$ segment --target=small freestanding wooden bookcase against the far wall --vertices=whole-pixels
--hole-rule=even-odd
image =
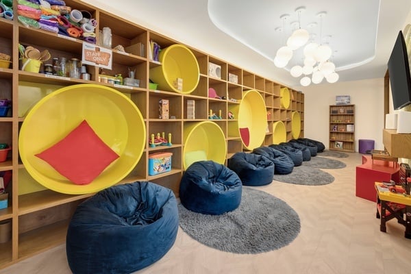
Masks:
[[[356,105],[329,105],[329,150],[355,151]]]

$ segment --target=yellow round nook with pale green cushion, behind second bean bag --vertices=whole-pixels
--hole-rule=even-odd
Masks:
[[[201,160],[224,164],[226,153],[227,142],[219,125],[212,121],[184,124],[184,169]]]

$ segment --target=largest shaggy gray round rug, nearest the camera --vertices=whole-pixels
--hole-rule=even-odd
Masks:
[[[178,204],[179,225],[203,245],[232,253],[262,253],[288,245],[300,232],[298,214],[281,199],[243,186],[240,206],[221,215]]]

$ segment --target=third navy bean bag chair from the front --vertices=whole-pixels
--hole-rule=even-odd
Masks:
[[[237,173],[243,186],[264,186],[273,182],[274,162],[263,155],[237,152],[229,158],[227,166]]]

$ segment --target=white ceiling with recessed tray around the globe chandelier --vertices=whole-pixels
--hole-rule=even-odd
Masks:
[[[384,77],[395,38],[411,23],[406,22],[410,0],[83,1],[291,87],[299,86],[299,78],[277,68],[273,58],[290,36],[292,22],[299,21],[296,8],[306,8],[301,27],[316,34],[315,42],[323,38],[332,47],[340,82]],[[316,14],[323,11],[327,15],[321,23]],[[282,21],[282,14],[290,17]],[[309,28],[313,22],[316,27]],[[302,54],[295,52],[288,70],[302,62]]]

